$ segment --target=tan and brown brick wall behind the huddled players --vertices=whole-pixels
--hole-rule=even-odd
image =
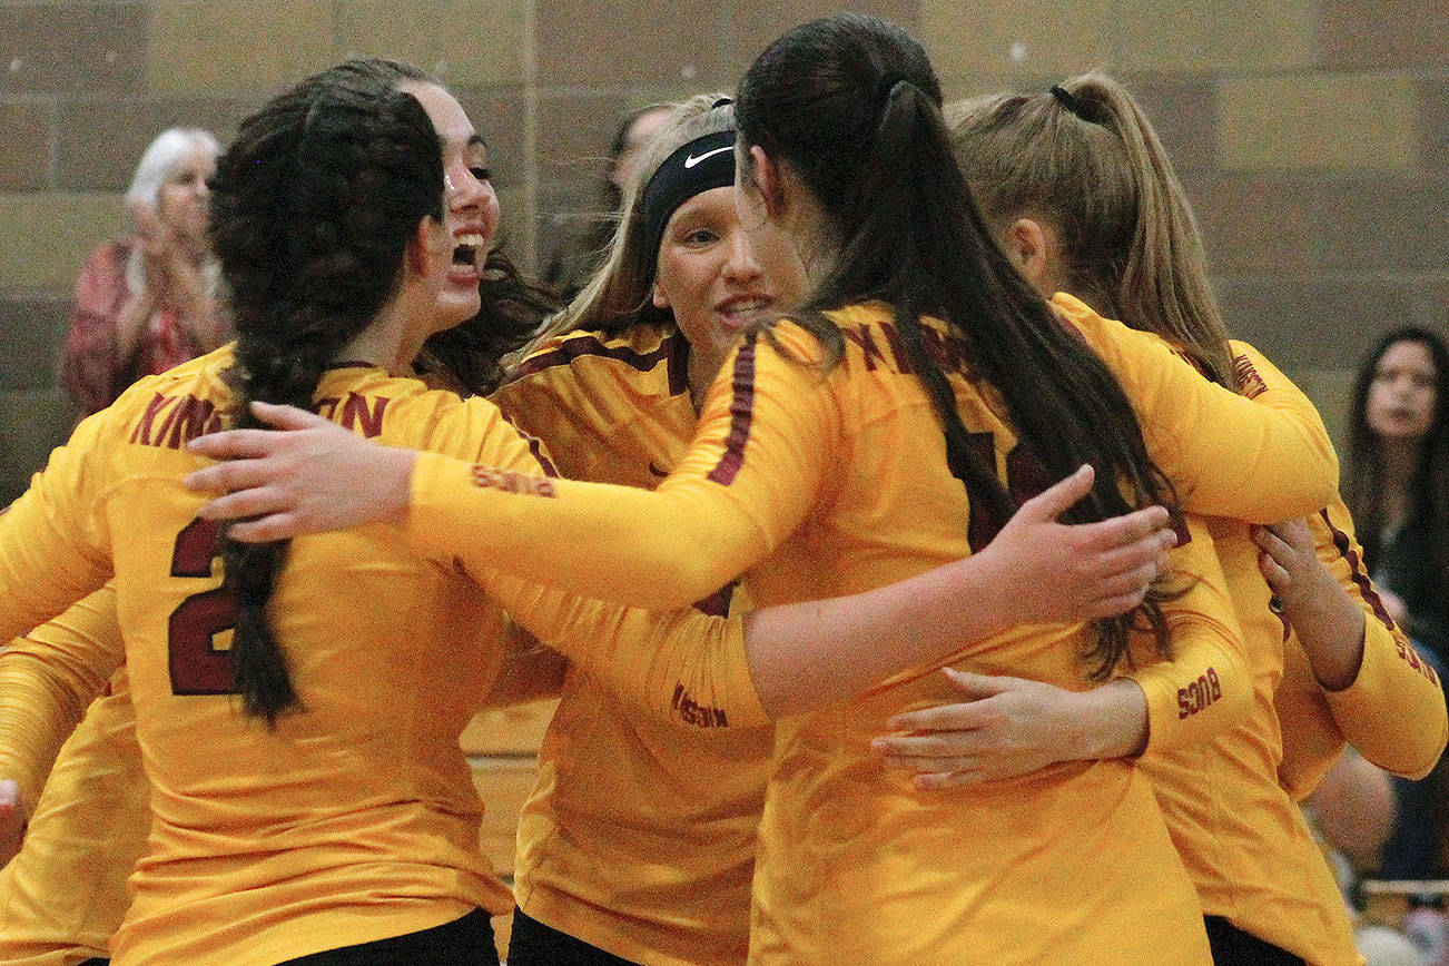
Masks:
[[[1375,333],[1449,327],[1449,0],[872,0],[948,96],[1104,67],[1158,123],[1235,330],[1337,424]],[[729,88],[817,0],[0,0],[0,497],[68,430],[74,275],[172,123],[223,139],[349,54],[443,75],[490,139],[525,264],[594,196],[616,117]]]

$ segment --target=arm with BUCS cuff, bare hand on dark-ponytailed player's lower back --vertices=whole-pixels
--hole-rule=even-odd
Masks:
[[[1232,727],[1252,704],[1242,631],[1207,529],[1190,520],[1190,533],[1172,563],[1191,587],[1164,605],[1169,660],[1080,692],[948,671],[965,700],[897,715],[875,752],[891,768],[917,772],[920,788],[953,788],[1062,760],[1203,742]]]

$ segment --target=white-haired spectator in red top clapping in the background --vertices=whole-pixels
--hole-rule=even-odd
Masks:
[[[75,281],[61,379],[84,414],[143,375],[226,342],[207,246],[207,187],[220,146],[209,132],[161,132],[126,191],[132,224],[91,252]]]

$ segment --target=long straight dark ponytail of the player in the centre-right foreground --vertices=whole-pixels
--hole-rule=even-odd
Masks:
[[[881,300],[893,307],[911,368],[926,384],[952,472],[974,504],[1006,520],[1016,501],[994,459],[977,455],[923,316],[946,326],[948,353],[994,385],[1022,442],[1052,479],[1097,469],[1071,521],[1175,504],[1130,403],[1103,362],[1000,253],[981,220],[940,114],[940,84],[920,43],[885,20],[842,13],[775,41],[740,81],[735,120],[746,148],[788,164],[814,196],[835,249],[796,313],[835,365],[845,345],[824,311]],[[752,178],[748,158],[742,182]],[[768,332],[768,330],[767,330]],[[1137,611],[1098,621],[1084,660],[1107,676],[1137,618],[1168,652],[1161,587]]]

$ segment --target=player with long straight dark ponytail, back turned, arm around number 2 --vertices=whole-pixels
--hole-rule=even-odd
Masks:
[[[433,552],[506,558],[510,569],[545,579],[567,574],[588,592],[677,604],[767,555],[768,563],[751,571],[761,601],[868,587],[927,565],[949,546],[990,546],[993,521],[1011,505],[998,474],[1009,474],[1020,494],[1032,488],[1033,472],[1059,475],[1087,450],[1100,468],[1100,504],[1088,513],[1120,505],[1119,484],[1132,500],[1159,494],[1130,404],[985,240],[938,106],[919,46],[868,17],[800,28],[751,68],[738,113],[740,156],[751,162],[742,217],[753,219],[764,259],[800,253],[813,272],[813,298],[798,324],[746,339],[730,358],[704,407],[703,442],[656,495],[567,482],[546,498],[504,494],[487,471],[472,475],[426,455],[351,446],[284,414],[309,429],[288,440],[245,433],[201,446],[213,455],[275,449],[284,459],[274,465],[290,468],[298,459],[314,468],[326,459],[351,475],[367,468],[375,474],[368,500],[381,498],[381,507],[304,503],[297,510],[294,484],[272,478],[212,511],[281,508],[236,529],[256,539],[406,505],[409,536]],[[943,323],[922,322],[923,310]],[[1098,339],[1110,329],[1084,324]],[[1119,365],[1151,368],[1124,355],[1116,349]],[[1020,437],[1007,419],[1024,421]],[[1020,449],[1019,440],[1026,442]],[[1200,504],[1242,492],[1236,482],[1219,491],[1198,485],[1190,455],[1171,446],[1164,453]],[[239,463],[204,471],[194,482],[248,485],[264,476],[256,465]],[[303,478],[307,487],[317,479]],[[517,556],[526,543],[559,532],[593,539],[551,543],[546,563]],[[1188,549],[1206,545],[1200,537]],[[636,563],[609,566],[619,559]],[[1179,643],[1203,653],[1216,646],[1222,655],[1232,646],[1230,610],[1213,600],[1214,562],[1195,563],[1201,579],[1188,597],[1197,610],[1175,611]],[[1126,647],[1120,630],[1033,629],[974,647],[969,659],[1080,686],[1093,672],[1116,668]],[[935,681],[924,671],[906,675],[846,710],[793,721],[777,743],[752,957],[1206,956],[1195,898],[1164,849],[1151,794],[1130,766],[1058,769],[1030,786],[982,794],[969,810],[862,773],[865,723],[885,707],[939,700]],[[1230,688],[1198,695],[1184,717],[1204,726],[1223,711],[1219,700],[1239,697]],[[1027,818],[1026,801],[1032,831],[1024,833],[1013,817]],[[1074,894],[1082,881],[1093,882],[1091,892]]]

